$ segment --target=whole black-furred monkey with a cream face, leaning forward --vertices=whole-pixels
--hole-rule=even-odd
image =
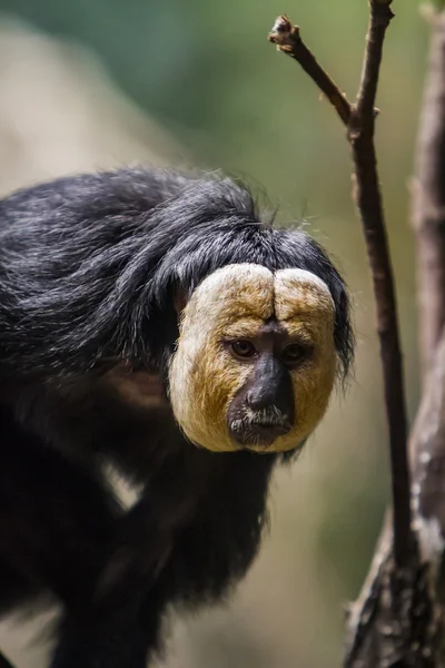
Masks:
[[[0,612],[60,603],[51,668],[144,668],[168,609],[243,579],[276,464],[353,360],[340,273],[235,178],[122,167],[7,196]]]

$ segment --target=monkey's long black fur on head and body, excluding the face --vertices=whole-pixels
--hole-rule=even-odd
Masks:
[[[167,603],[218,599],[256,554],[277,456],[196,449],[168,404],[131,407],[103,382],[119,361],[165,376],[174,296],[246,262],[327,283],[346,375],[343,279],[233,180],[121,169],[0,203],[0,609],[63,602],[53,668],[142,668]],[[105,461],[144,483],[128,512]]]

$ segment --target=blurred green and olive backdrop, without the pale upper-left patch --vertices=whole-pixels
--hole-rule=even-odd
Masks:
[[[377,125],[411,415],[418,391],[407,184],[427,40],[418,7],[417,0],[393,3]],[[283,224],[303,218],[339,258],[359,340],[352,389],[346,400],[334,402],[291,472],[278,475],[271,539],[234,605],[178,627],[179,654],[175,659],[172,651],[168,664],[338,665],[342,603],[363,581],[387,493],[378,345],[344,128],[298,66],[267,42],[267,33],[277,14],[288,13],[353,99],[366,0],[0,0],[0,11],[90,49],[122,94],[180,141],[187,159],[241,175],[259,193],[264,187],[270,206],[279,204]]]

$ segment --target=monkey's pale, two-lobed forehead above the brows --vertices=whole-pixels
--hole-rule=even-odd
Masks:
[[[290,268],[274,273],[256,264],[217,269],[197,287],[189,306],[199,317],[219,313],[280,321],[335,310],[328,286],[312,272]]]

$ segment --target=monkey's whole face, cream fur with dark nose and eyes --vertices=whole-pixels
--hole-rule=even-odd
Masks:
[[[335,306],[303,269],[230,265],[182,312],[169,369],[178,424],[214,451],[286,451],[323,418],[336,373]]]

